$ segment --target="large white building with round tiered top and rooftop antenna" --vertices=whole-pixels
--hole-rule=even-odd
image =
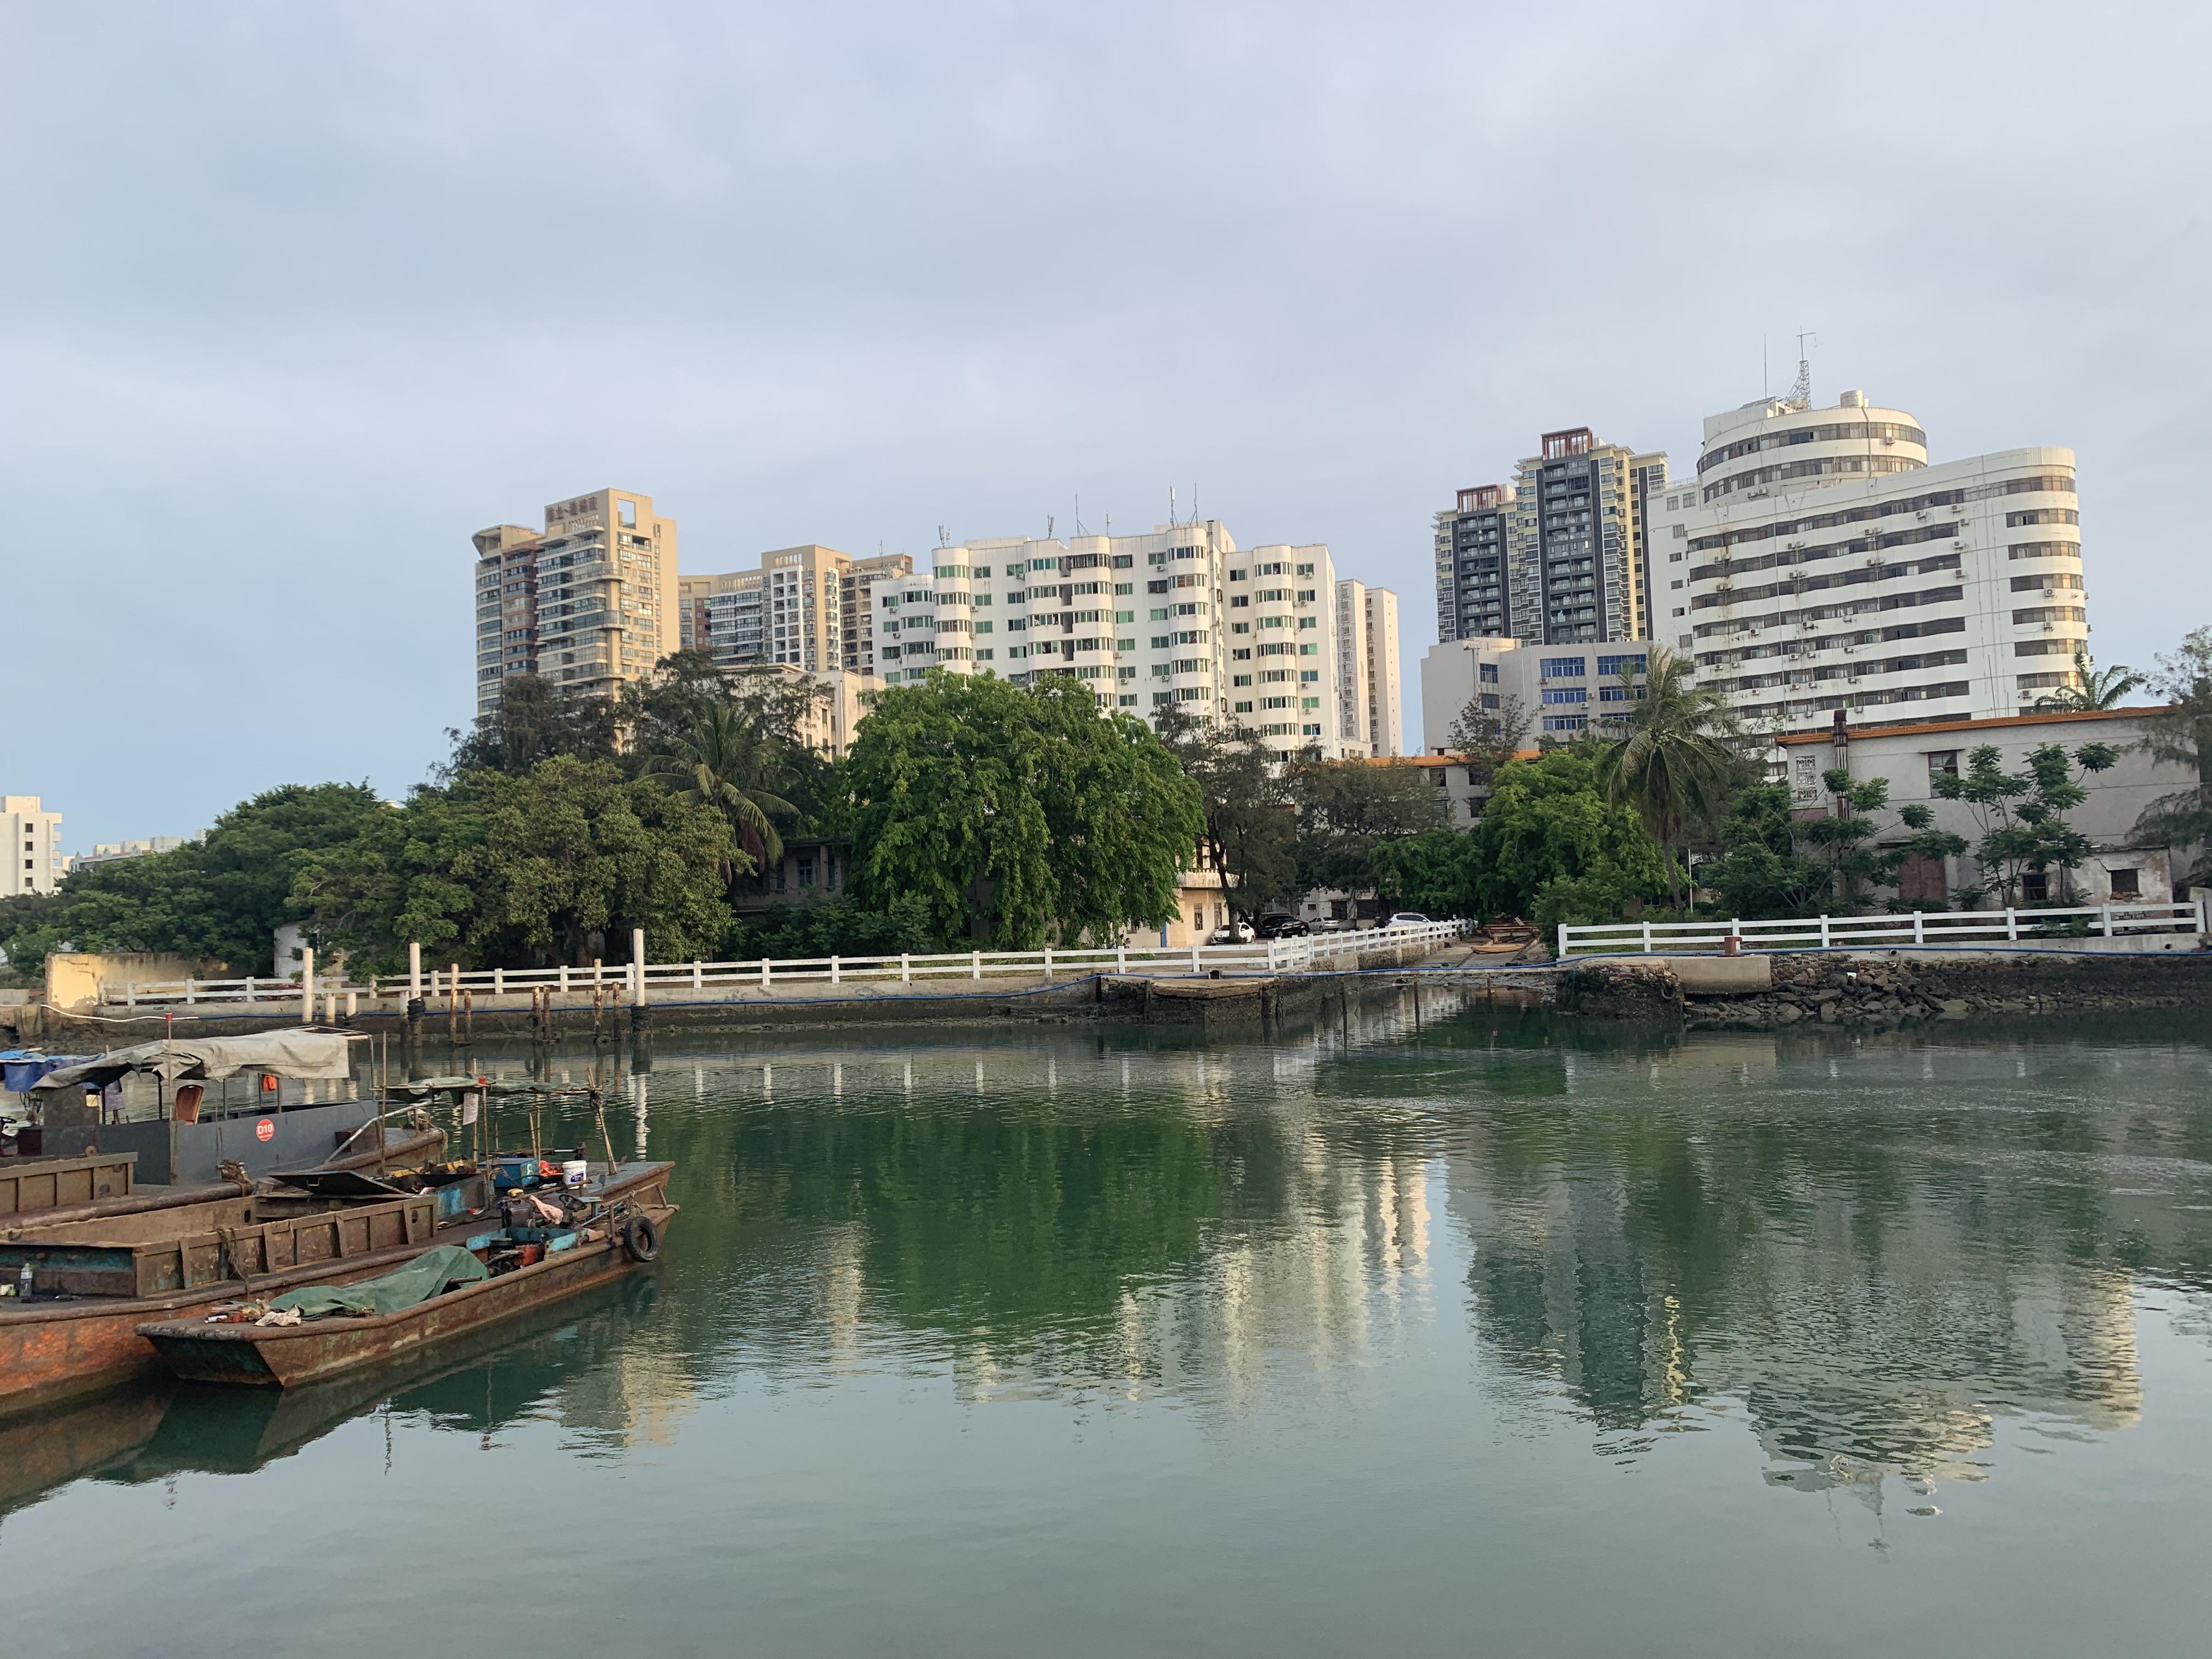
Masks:
[[[2073,451],[1929,465],[1920,422],[1863,392],[1712,416],[1646,533],[1652,633],[1754,728],[2002,719],[2088,648]]]

